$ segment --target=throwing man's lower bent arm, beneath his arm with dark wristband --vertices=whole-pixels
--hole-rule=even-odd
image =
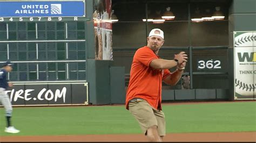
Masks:
[[[183,62],[180,65],[178,65],[176,71],[174,71],[169,76],[165,77],[163,81],[169,85],[176,85],[180,80],[182,74],[184,73],[185,66],[186,62]]]

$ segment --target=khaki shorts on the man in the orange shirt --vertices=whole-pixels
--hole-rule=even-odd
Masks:
[[[136,98],[129,102],[129,111],[139,122],[143,133],[146,135],[147,129],[157,126],[159,136],[165,135],[165,116],[161,110],[156,110],[144,99]]]

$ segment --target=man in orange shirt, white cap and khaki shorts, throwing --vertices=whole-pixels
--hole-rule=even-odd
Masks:
[[[151,30],[147,46],[139,48],[133,56],[130,82],[126,93],[126,109],[139,122],[149,141],[163,141],[165,116],[161,111],[162,81],[175,85],[183,74],[187,62],[185,52],[174,55],[174,60],[160,59],[157,55],[164,44],[164,32]],[[170,68],[177,67],[171,73]]]

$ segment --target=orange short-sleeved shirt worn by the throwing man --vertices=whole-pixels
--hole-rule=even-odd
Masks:
[[[159,59],[147,46],[139,48],[133,56],[130,72],[130,82],[126,92],[126,109],[133,98],[145,99],[154,109],[161,110],[162,80],[169,76],[168,69],[159,70],[150,67],[150,62]]]

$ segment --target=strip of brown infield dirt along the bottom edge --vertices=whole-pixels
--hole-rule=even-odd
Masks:
[[[56,135],[56,136],[10,136],[0,137],[0,141],[147,141],[143,134],[104,134],[104,135]],[[214,142],[255,142],[256,132],[223,133],[170,133],[164,141],[214,141]]]

